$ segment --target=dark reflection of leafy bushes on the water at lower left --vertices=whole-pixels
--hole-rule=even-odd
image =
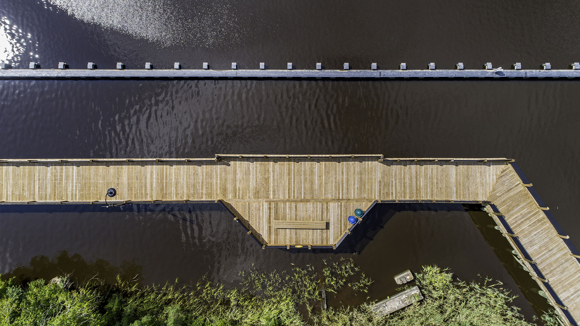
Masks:
[[[142,274],[143,266],[135,260],[113,266],[104,259],[87,261],[78,253],[70,255],[67,251],[59,251],[52,259],[44,255],[34,256],[28,266],[17,265],[9,273],[3,274],[2,279],[14,277],[17,284],[26,284],[39,278],[48,281],[53,277],[70,275],[71,281],[76,284],[86,284],[91,280],[114,284],[117,276],[124,281],[142,282]]]

